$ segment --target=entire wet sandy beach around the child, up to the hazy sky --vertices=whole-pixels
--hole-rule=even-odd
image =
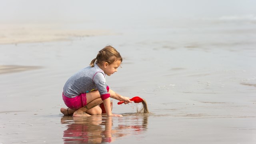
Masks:
[[[0,144],[256,142],[255,15],[101,18],[0,25]],[[124,117],[63,116],[64,83],[108,44],[124,58],[108,85],[150,113],[113,100]]]

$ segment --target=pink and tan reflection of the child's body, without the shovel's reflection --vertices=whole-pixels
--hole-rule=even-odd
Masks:
[[[73,121],[73,122],[70,122]],[[63,132],[64,144],[101,144],[104,142],[113,142],[111,116],[103,118],[102,116],[90,116],[86,119],[81,117],[64,116],[60,121],[65,126]],[[124,134],[123,134],[124,136]],[[121,137],[121,136],[118,136]]]

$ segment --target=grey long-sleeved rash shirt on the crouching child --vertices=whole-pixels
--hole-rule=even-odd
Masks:
[[[100,95],[107,94],[106,74],[95,63],[94,67],[88,66],[71,76],[63,88],[63,93],[69,98],[74,98],[82,93],[98,90]]]

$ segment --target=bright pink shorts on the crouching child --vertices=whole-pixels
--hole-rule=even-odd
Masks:
[[[66,106],[72,110],[78,110],[79,108],[82,108],[86,106],[86,93],[80,94],[79,96],[76,96],[74,98],[68,98],[62,93],[62,99]]]

